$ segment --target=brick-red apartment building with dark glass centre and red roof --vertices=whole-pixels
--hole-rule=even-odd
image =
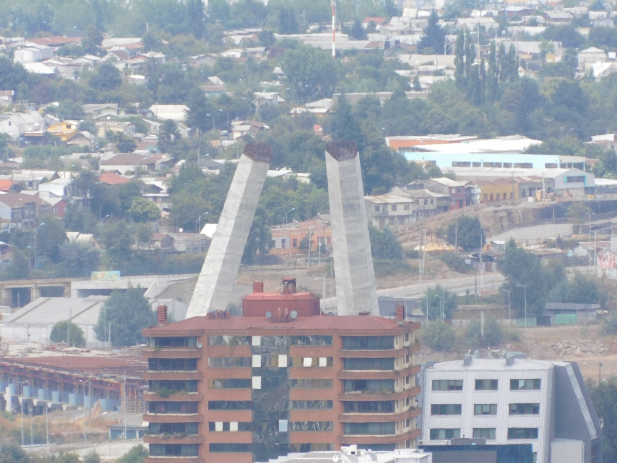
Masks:
[[[157,327],[148,339],[146,463],[251,463],[292,452],[413,448],[419,323],[321,315],[319,299],[263,283],[243,315],[210,312]],[[268,316],[269,315],[269,316]]]

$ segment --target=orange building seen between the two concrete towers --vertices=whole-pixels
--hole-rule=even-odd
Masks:
[[[329,214],[318,215],[304,222],[289,222],[284,225],[274,225],[270,228],[273,256],[288,256],[309,251],[309,235],[311,252],[318,253],[332,249],[332,230]],[[302,243],[302,240],[306,240]],[[303,246],[303,247],[302,247]],[[317,255],[317,254],[316,254]]]

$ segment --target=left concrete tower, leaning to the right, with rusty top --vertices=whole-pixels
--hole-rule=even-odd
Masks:
[[[244,148],[186,318],[225,310],[231,302],[231,291],[271,158],[272,150],[266,143],[249,143]]]

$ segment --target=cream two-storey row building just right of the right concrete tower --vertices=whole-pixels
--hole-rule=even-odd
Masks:
[[[395,190],[378,196],[365,196],[366,219],[379,230],[404,225],[447,211],[450,196],[429,190]]]

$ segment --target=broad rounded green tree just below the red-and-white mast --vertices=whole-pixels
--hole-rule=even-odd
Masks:
[[[331,98],[341,78],[341,65],[331,53],[308,45],[286,51],[281,64],[291,93],[301,102]]]

